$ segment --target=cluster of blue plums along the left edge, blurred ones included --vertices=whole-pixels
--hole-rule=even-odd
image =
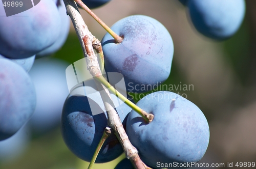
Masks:
[[[60,49],[69,34],[65,5],[62,0],[30,3],[23,2],[23,11],[0,5],[0,162],[22,154],[31,132],[58,126],[69,93],[68,64],[45,57]],[[97,7],[106,1],[84,3]]]

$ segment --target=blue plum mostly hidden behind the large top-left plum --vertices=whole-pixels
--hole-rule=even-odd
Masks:
[[[70,17],[66,13],[66,7],[63,1],[58,0],[57,2],[58,12],[60,15],[60,21],[61,21],[61,27],[59,30],[59,36],[57,40],[48,48],[40,51],[36,54],[36,57],[42,57],[44,55],[50,55],[56,51],[58,51],[63,44],[66,42],[67,37],[69,35],[69,29],[70,29]]]

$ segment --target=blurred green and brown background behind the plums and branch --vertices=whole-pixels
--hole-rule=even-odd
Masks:
[[[200,162],[225,163],[225,168],[227,162],[256,162],[256,1],[247,0],[246,8],[240,30],[221,42],[200,35],[178,0],[112,0],[93,10],[109,26],[125,16],[142,14],[167,28],[174,41],[174,60],[164,84],[193,85],[188,91],[172,92],[198,105],[209,122],[210,143]],[[101,40],[105,30],[86,12],[80,12],[89,30]],[[69,65],[82,57],[71,24],[65,45],[48,59],[58,58]],[[81,169],[89,165],[68,150],[59,123],[41,133],[29,127],[24,130],[30,141],[14,149],[15,156],[0,155],[1,169]],[[18,153],[20,149],[22,153]],[[124,155],[95,168],[114,168],[122,158]]]

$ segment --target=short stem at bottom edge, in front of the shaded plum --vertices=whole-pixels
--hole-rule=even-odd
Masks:
[[[97,156],[99,154],[99,151],[100,151],[102,145],[104,144],[106,138],[108,138],[111,134],[112,134],[111,128],[110,127],[106,127],[104,132],[103,132],[102,137],[100,138],[99,144],[98,144],[98,146],[97,146],[97,148],[96,148],[96,150],[95,150],[95,152],[93,154],[93,158],[92,158],[92,160],[91,160],[91,162],[90,162],[90,164],[88,166],[88,169],[92,169],[93,168],[93,165],[94,165],[94,163],[96,161],[96,158],[97,158]]]

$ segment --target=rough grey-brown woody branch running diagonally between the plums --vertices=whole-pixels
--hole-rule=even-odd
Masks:
[[[84,23],[77,5],[72,0],[63,0],[65,3],[67,14],[70,16],[72,23],[75,27],[76,34],[78,36],[80,45],[83,50],[84,57],[86,58],[88,70],[93,77],[102,76],[99,63],[97,61],[97,56],[93,50],[93,41],[95,37],[88,30],[86,23]],[[119,142],[121,143],[126,158],[130,159],[134,166],[138,169],[149,168],[140,159],[137,149],[131,144],[121,120],[114,109],[114,103],[111,100],[110,92],[106,89],[99,81],[95,79],[96,86],[100,92],[101,98],[103,100],[107,115],[108,115],[108,125],[114,130]]]

